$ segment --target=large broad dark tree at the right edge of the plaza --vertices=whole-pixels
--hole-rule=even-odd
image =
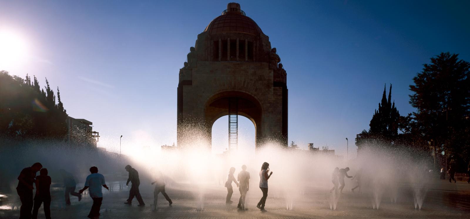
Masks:
[[[452,159],[470,160],[470,63],[440,53],[413,78],[410,104],[421,135]]]

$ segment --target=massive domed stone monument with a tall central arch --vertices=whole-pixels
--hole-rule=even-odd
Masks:
[[[210,145],[212,125],[225,115],[229,138],[237,137],[232,127],[242,115],[255,126],[256,148],[271,141],[287,147],[286,71],[268,36],[238,3],[228,3],[189,51],[178,83],[178,147],[197,140]]]

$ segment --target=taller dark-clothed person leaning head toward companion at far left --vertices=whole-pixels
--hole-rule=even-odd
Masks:
[[[40,163],[35,163],[31,167],[24,168],[18,176],[18,186],[16,192],[20,196],[20,219],[30,219],[33,207],[32,184],[35,182],[36,173],[42,168]],[[36,188],[37,189],[37,188]]]

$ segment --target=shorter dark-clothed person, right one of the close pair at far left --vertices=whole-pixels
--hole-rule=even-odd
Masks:
[[[34,196],[34,208],[32,210],[32,219],[38,218],[38,211],[41,204],[44,203],[44,215],[46,219],[51,219],[51,177],[47,175],[47,169],[42,168],[39,176],[36,177],[36,196]]]

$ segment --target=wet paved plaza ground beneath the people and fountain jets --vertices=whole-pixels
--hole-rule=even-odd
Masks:
[[[126,206],[125,202],[129,187],[120,189],[119,183],[110,183],[111,191],[103,189],[104,198],[101,207],[101,217],[104,219],[129,219],[129,218],[168,218],[168,219],[205,219],[205,218],[242,218],[242,219],[310,219],[310,218],[469,218],[470,217],[470,184],[464,181],[449,183],[444,180],[434,180],[426,183],[420,191],[424,196],[421,210],[415,209],[413,189],[410,185],[401,184],[396,203],[393,203],[387,195],[385,188],[382,193],[375,194],[357,191],[343,191],[338,198],[337,209],[331,210],[332,195],[329,188],[310,188],[299,193],[291,202],[280,196],[274,189],[268,193],[266,201],[267,212],[261,212],[256,208],[261,197],[258,188],[252,188],[247,197],[247,211],[238,211],[236,204],[239,192],[234,188],[232,196],[233,204],[225,204],[226,190],[219,186],[205,189],[204,198],[198,198],[197,194],[180,188],[167,188],[168,195],[172,198],[173,205],[160,194],[157,211],[152,211],[153,194],[142,191],[145,207],[138,207],[134,199],[133,206]],[[121,184],[122,185],[122,184]],[[81,188],[79,185],[77,188]],[[78,189],[77,189],[78,190]],[[148,190],[148,189],[147,189]],[[92,199],[85,194],[81,202],[72,196],[71,206],[65,206],[62,188],[51,189],[53,201],[51,204],[52,218],[74,219],[86,218]],[[13,219],[19,217],[19,199],[16,194],[8,195],[0,204],[0,219]],[[379,209],[373,208],[374,197],[379,200]],[[378,197],[378,198],[377,198]],[[203,201],[199,201],[203,200]],[[288,210],[290,209],[291,210]],[[39,210],[39,218],[44,218],[42,208]]]

